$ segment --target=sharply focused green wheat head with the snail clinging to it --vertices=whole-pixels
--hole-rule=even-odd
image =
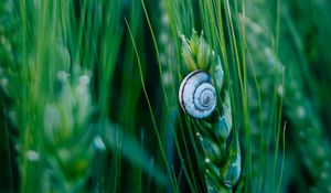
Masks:
[[[211,50],[203,34],[193,31],[190,40],[182,39],[183,65],[181,75],[202,69],[213,76],[216,85],[218,107],[213,118],[199,120],[190,118],[202,147],[204,176],[209,192],[232,192],[241,176],[241,149],[238,137],[232,130],[232,108],[228,93],[223,88],[223,67],[220,56]],[[229,135],[232,136],[229,137]]]

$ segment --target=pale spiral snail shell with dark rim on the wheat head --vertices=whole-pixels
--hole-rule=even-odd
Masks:
[[[209,117],[216,107],[216,90],[210,74],[204,71],[190,73],[181,83],[179,99],[191,117]]]

